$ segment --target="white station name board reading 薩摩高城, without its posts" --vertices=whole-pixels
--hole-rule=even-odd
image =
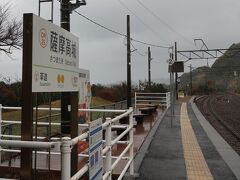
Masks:
[[[78,37],[33,15],[32,92],[78,91]]]

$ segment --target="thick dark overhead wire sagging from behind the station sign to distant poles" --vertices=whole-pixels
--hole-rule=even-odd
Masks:
[[[101,27],[101,28],[103,28],[103,29],[105,29],[105,30],[107,30],[109,32],[112,32],[113,34],[117,34],[117,35],[122,36],[122,37],[127,37],[126,34],[123,34],[123,33],[120,33],[118,31],[115,31],[115,30],[113,30],[111,28],[108,28],[108,27],[106,27],[106,26],[96,22],[95,20],[92,20],[89,17],[83,15],[82,13],[79,13],[76,10],[74,10],[74,12],[76,14],[78,14],[79,16],[83,17],[84,19],[88,20],[89,22],[91,22],[91,23],[93,23],[93,24],[95,24],[95,25],[97,25],[97,26],[99,26],[99,27]],[[131,38],[131,41],[135,41],[135,42],[140,43],[140,44],[144,44],[144,45],[148,45],[148,46],[152,46],[152,47],[157,47],[157,48],[164,48],[164,49],[169,49],[170,48],[170,46],[157,45],[157,44],[153,44],[153,43],[137,40],[137,39],[134,39],[134,38]]]

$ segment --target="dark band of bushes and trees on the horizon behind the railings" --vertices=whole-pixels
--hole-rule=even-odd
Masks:
[[[21,106],[22,82],[10,82],[11,81],[0,81],[0,104],[3,106]],[[139,87],[132,87],[132,97],[134,97],[134,92],[139,91],[139,89],[146,92],[167,92],[167,87],[163,84],[152,83],[151,87],[149,87],[147,82],[140,82]],[[107,102],[119,102],[126,100],[126,92],[127,85],[125,82],[108,86],[101,84],[92,85],[92,96],[100,97],[107,100]],[[50,93],[38,93],[38,104],[48,105],[50,99],[49,95]],[[58,100],[60,99],[60,96],[60,93],[51,93],[51,100]],[[93,104],[93,106],[96,105],[98,106],[100,104]]]

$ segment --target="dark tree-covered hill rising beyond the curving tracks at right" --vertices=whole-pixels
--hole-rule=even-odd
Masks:
[[[233,44],[212,67],[199,67],[192,70],[193,94],[231,91],[240,93],[240,43]],[[190,73],[184,73],[180,89],[190,92]]]

